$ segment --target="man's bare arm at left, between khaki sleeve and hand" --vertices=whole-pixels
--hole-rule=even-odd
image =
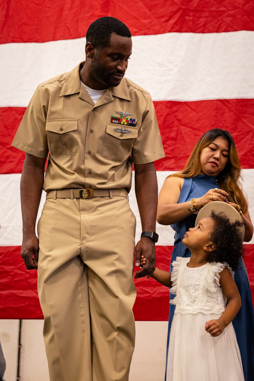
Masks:
[[[26,154],[20,182],[23,236],[35,234],[46,159]]]

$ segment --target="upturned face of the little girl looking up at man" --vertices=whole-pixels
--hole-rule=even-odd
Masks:
[[[211,233],[214,229],[214,221],[211,217],[202,218],[196,227],[191,227],[186,232],[182,243],[190,251],[200,251],[212,245]],[[206,250],[206,249],[205,249]]]

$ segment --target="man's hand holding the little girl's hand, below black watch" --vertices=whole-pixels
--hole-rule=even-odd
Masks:
[[[142,237],[140,241],[137,243],[135,251],[135,266],[137,267],[142,265],[142,268],[141,270],[136,272],[134,278],[142,278],[147,275],[147,279],[150,279],[156,267],[155,243],[150,238]],[[143,261],[141,256],[145,258],[145,261]],[[154,269],[151,269],[151,266],[153,266]]]

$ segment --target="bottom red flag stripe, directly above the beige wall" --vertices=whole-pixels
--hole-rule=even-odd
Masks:
[[[43,319],[37,293],[37,272],[26,270],[20,246],[0,247],[0,319]],[[157,267],[169,271],[173,246],[157,246]],[[254,245],[245,245],[254,300]],[[136,268],[135,268],[136,269]],[[169,289],[154,279],[134,280],[137,298],[135,320],[168,320]]]

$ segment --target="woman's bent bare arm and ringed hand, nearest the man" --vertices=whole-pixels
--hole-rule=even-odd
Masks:
[[[169,177],[165,180],[158,198],[157,221],[159,224],[176,224],[192,215],[189,201],[178,204],[183,184],[184,179],[180,177]],[[214,189],[210,189],[202,197],[196,198],[194,204],[200,209],[207,203],[213,202],[211,196],[214,197],[214,201],[225,201],[228,194],[222,189],[218,189],[217,193]]]

